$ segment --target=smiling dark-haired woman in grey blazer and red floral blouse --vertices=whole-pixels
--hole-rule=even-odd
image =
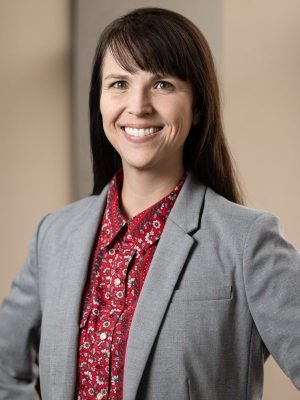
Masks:
[[[47,215],[1,311],[0,397],[254,400],[300,389],[300,260],[242,206],[208,45],[138,9],[100,37],[93,196]],[[107,185],[108,184],[108,185]]]

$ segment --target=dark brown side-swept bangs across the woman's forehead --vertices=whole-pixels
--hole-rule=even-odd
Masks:
[[[130,21],[128,21],[130,22]],[[107,48],[128,72],[138,69],[189,80],[189,68],[183,38],[167,26],[147,23],[121,24],[111,32]],[[118,29],[119,28],[119,29]]]

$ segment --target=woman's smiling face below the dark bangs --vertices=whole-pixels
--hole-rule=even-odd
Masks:
[[[123,69],[107,51],[102,66],[100,112],[124,172],[183,168],[183,145],[192,123],[192,87],[174,76]]]

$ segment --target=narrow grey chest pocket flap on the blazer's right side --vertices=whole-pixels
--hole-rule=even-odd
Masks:
[[[205,301],[205,300],[228,300],[232,296],[232,286],[198,286],[187,287],[174,291],[174,301]]]

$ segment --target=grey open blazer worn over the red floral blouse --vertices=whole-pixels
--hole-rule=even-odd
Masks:
[[[73,400],[81,295],[106,190],[47,215],[0,313],[0,399]],[[132,321],[124,400],[258,400],[272,353],[300,390],[300,259],[272,214],[189,175]]]

